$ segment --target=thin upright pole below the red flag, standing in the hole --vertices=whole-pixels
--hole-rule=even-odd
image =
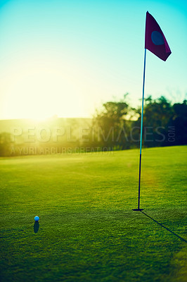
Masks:
[[[144,102],[145,77],[146,77],[146,48],[145,48],[145,53],[144,53],[143,90],[142,90],[142,102],[141,102],[141,136],[140,136],[139,181],[138,181],[138,209],[133,209],[133,211],[143,211],[143,209],[140,209],[140,188],[141,188],[141,147],[142,147],[142,135],[143,135],[143,102]]]

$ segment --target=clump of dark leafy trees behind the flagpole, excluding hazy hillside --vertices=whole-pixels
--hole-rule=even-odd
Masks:
[[[99,146],[114,149],[139,147],[141,108],[127,103],[127,95],[120,102],[106,102],[97,111],[93,125],[103,129],[107,142],[100,138]],[[110,133],[110,134],[109,134]],[[162,147],[187,144],[187,104],[172,104],[165,97],[145,99],[143,111],[143,147]]]

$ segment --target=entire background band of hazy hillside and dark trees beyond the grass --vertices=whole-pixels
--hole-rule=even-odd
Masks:
[[[139,147],[141,108],[127,102],[127,94],[120,101],[105,102],[96,110],[91,123],[78,128],[56,128],[56,137],[46,138],[46,130],[39,133],[41,142],[19,142],[11,133],[0,134],[0,155],[56,154],[64,152],[98,152]],[[43,139],[42,139],[43,138]],[[145,99],[143,111],[143,147],[163,147],[187,144],[187,104],[172,104],[165,97]],[[16,149],[17,148],[17,149]]]

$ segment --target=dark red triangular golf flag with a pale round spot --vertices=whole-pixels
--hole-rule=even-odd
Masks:
[[[163,61],[166,61],[169,55],[172,54],[164,33],[157,24],[155,18],[148,12],[146,13],[145,48]]]

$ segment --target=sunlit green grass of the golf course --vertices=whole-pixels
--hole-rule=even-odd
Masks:
[[[143,212],[185,240],[186,152],[143,149],[141,183]],[[186,242],[131,211],[138,154],[1,158],[1,281],[186,281]]]

